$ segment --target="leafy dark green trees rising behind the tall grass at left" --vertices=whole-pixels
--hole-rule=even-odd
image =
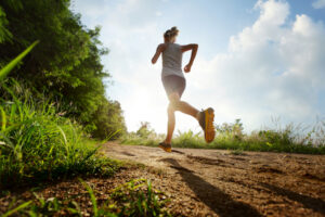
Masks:
[[[101,56],[108,50],[99,40],[100,27],[86,28],[80,15],[69,10],[69,2],[2,0],[0,67],[39,40],[39,46],[10,77],[28,85],[34,94],[41,92],[60,102],[57,106],[63,114],[76,119],[93,136],[104,138],[117,130],[121,135],[125,124],[116,123],[122,119],[121,110],[104,95],[103,79],[109,74],[104,71]],[[4,94],[0,91],[1,97]],[[104,117],[107,111],[112,117]],[[103,118],[108,123],[103,124]]]

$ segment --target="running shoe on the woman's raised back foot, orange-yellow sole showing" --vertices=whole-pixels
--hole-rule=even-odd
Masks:
[[[205,139],[208,143],[212,142],[216,137],[213,119],[214,111],[212,107],[202,111],[199,114],[198,123],[205,132]]]

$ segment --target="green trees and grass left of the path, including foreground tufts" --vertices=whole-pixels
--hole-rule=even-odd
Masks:
[[[99,153],[102,143],[126,132],[119,103],[105,97],[110,76],[101,56],[108,50],[100,27],[83,26],[69,3],[0,3],[0,199],[125,168]],[[83,216],[91,203],[91,216],[169,216],[166,196],[146,180],[121,183],[105,203],[80,181],[89,193],[80,203],[34,193],[32,200],[1,204],[0,215]]]

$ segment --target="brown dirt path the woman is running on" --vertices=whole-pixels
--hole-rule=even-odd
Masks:
[[[325,156],[107,143],[104,153],[148,166],[183,216],[325,216]]]

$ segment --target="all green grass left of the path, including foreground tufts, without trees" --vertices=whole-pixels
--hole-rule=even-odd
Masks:
[[[38,186],[44,181],[73,177],[110,177],[122,163],[98,154],[101,145],[91,140],[76,122],[63,117],[58,102],[36,97],[15,80],[5,80],[11,69],[32,50],[32,43],[0,71],[0,193],[13,188]],[[113,133],[114,135],[114,133]],[[92,204],[91,216],[170,216],[161,192],[140,179],[127,182],[110,192],[101,203],[89,184],[80,179]],[[73,199],[35,199],[16,204],[1,216],[83,216]],[[166,196],[164,196],[166,197]],[[88,201],[84,202],[86,204]],[[84,205],[84,204],[83,204]]]

